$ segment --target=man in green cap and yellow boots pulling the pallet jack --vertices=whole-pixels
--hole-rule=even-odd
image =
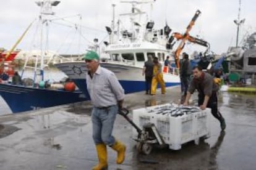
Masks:
[[[100,67],[100,57],[89,51],[84,55],[88,73],[86,74],[87,90],[93,104],[92,125],[93,140],[96,145],[99,163],[92,169],[108,168],[106,145],[117,152],[117,164],[124,161],[126,146],[112,136],[114,121],[124,101],[124,89],[112,71]]]

